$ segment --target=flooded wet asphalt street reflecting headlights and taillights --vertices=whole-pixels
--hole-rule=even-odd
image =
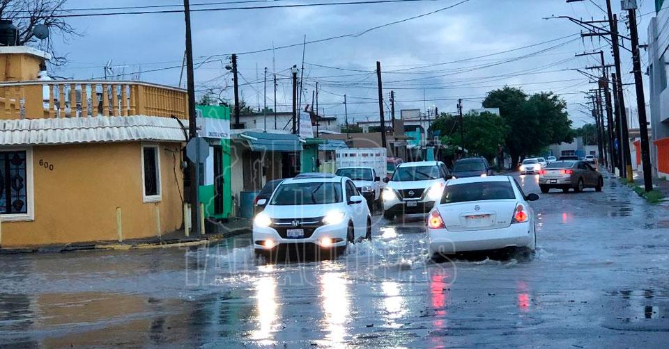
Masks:
[[[331,261],[267,263],[249,236],[0,256],[0,347],[666,348],[669,211],[605,181],[540,195],[531,259],[434,263],[420,216]]]

